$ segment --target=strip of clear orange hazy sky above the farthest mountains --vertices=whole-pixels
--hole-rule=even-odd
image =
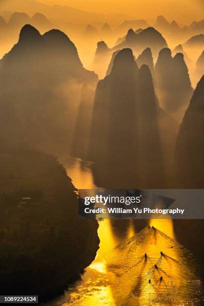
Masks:
[[[134,17],[155,18],[163,14],[180,22],[202,19],[204,0],[38,0],[46,4],[66,4],[92,12],[125,13]]]

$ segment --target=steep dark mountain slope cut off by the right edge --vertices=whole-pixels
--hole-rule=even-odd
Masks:
[[[199,80],[176,140],[175,178],[178,188],[203,188],[204,76]]]

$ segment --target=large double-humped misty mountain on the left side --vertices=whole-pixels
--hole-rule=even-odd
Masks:
[[[81,86],[94,88],[96,82],[96,74],[83,68],[63,32],[40,35],[25,25],[0,61],[0,137],[53,152],[67,150]]]

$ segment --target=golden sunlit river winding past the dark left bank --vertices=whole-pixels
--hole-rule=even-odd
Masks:
[[[61,162],[76,188],[96,188],[88,163],[76,158]],[[99,222],[94,261],[46,306],[203,304],[196,263],[176,240],[171,219],[149,220],[141,231],[131,220],[119,222]]]

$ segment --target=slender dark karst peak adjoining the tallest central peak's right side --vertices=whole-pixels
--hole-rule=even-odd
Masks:
[[[159,107],[153,87],[150,69],[142,65],[138,72],[139,105],[139,167],[142,185],[156,187],[164,185],[163,154],[159,133]],[[154,173],[154,181],[151,176]]]

